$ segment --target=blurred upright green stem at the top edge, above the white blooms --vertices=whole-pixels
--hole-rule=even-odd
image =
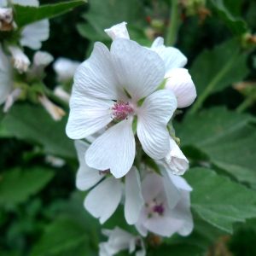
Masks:
[[[173,45],[177,39],[177,32],[179,27],[179,9],[178,9],[178,1],[171,0],[171,12],[170,12],[170,22],[167,27],[166,32],[166,45]]]

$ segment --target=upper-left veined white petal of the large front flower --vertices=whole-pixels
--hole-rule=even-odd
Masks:
[[[107,100],[121,100],[108,48],[102,43],[94,44],[90,58],[84,61],[74,76],[73,91]]]

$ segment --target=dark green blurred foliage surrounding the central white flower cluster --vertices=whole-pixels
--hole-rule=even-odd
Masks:
[[[173,2],[91,0],[50,21],[51,34],[43,49],[55,58],[83,61],[95,41],[110,44],[103,29],[123,20],[132,39],[150,45],[155,36],[168,34]],[[174,41],[188,56],[198,92],[195,104],[175,124],[191,166],[185,178],[194,188],[195,230],[160,244],[148,238],[148,255],[252,256],[256,255],[256,3],[194,2],[206,4],[181,9]],[[48,15],[57,9],[60,6],[48,9]],[[19,22],[25,24],[26,17],[21,15]],[[51,89],[56,78],[51,67],[47,72],[45,83]],[[68,112],[67,106],[62,107]],[[0,254],[97,255],[103,238],[100,225],[83,208],[83,193],[74,186],[78,161],[65,134],[67,115],[55,122],[44,108],[20,102],[9,113],[0,113],[0,121]],[[61,157],[65,165],[51,165],[46,160],[49,154]],[[120,209],[104,226],[124,223]]]

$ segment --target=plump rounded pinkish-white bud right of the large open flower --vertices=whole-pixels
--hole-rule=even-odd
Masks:
[[[189,107],[196,98],[195,84],[185,68],[174,68],[166,73],[166,89],[177,97],[177,108]]]

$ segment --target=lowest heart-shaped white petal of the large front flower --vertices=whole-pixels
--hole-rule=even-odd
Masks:
[[[114,177],[123,177],[130,171],[135,157],[135,138],[132,119],[125,119],[105,131],[86,153],[88,166],[108,170]]]

